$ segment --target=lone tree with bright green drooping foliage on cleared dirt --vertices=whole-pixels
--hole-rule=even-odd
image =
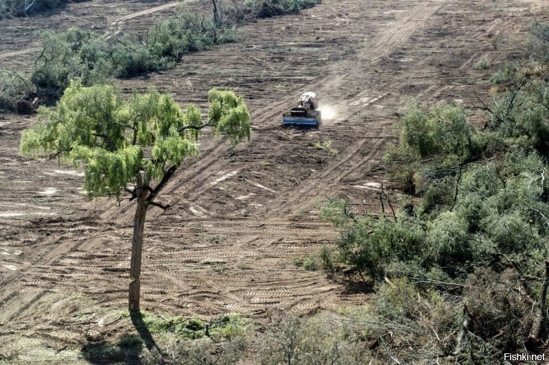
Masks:
[[[198,154],[200,131],[233,144],[250,139],[250,114],[232,91],[209,91],[209,113],[189,105],[183,112],[156,90],[123,99],[112,86],[73,81],[56,108],[38,110],[38,124],[21,136],[21,153],[47,155],[84,166],[89,197],[130,194],[137,201],[130,262],[130,312],[139,312],[139,277],[145,215],[185,158]]]

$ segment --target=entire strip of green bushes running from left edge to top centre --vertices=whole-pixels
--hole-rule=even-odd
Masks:
[[[24,5],[23,1],[0,1],[3,1],[0,14],[1,9]],[[54,3],[53,0],[36,1],[36,6]],[[30,81],[27,77],[2,73],[0,108],[19,111],[17,105],[22,106],[23,101],[30,99],[34,101],[35,92],[39,102],[53,103],[76,78],[82,79],[84,86],[91,86],[109,83],[113,77],[132,77],[172,68],[186,53],[233,42],[236,26],[261,16],[255,12],[261,7],[276,8],[276,14],[285,14],[317,3],[320,0],[235,1],[215,16],[180,12],[154,24],[141,37],[134,34],[103,36],[77,27],[66,32],[46,32]],[[31,106],[24,111],[34,109],[34,105]]]

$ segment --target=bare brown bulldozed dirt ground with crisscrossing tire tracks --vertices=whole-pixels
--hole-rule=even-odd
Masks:
[[[58,21],[59,28],[107,29],[120,3],[128,2],[75,3],[36,27]],[[132,12],[168,3],[132,1]],[[530,21],[544,20],[543,5],[325,0],[300,15],[247,25],[234,44],[188,55],[172,71],[121,81],[127,93],[156,86],[202,106],[209,88],[233,88],[253,123],[252,141],[236,148],[205,136],[200,158],[180,168],[161,196],[172,208],[150,210],[142,307],[200,317],[240,312],[261,327],[288,310],[364,303],[364,286],[292,265],[338,236],[318,220],[319,207],[349,196],[356,210],[379,214],[384,145],[396,138],[401,106],[417,98],[471,107],[475,92],[488,99],[490,73],[506,58],[524,57],[509,49],[524,40]],[[173,8],[155,16],[167,12]],[[145,23],[128,18],[124,26]],[[0,53],[32,48],[35,40],[30,32],[8,33]],[[25,55],[0,62],[23,64]],[[481,57],[491,68],[474,68]],[[334,117],[319,130],[281,129],[281,113],[307,90]],[[0,361],[79,361],[86,338],[114,333],[116,323],[108,323],[126,307],[134,206],[88,202],[78,171],[21,158],[21,130],[33,122],[0,116]],[[314,145],[328,141],[337,153]]]

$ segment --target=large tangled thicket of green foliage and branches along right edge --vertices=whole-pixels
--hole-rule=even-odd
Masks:
[[[373,279],[360,333],[398,361],[493,363],[549,334],[549,25],[532,29],[532,58],[493,77],[483,127],[445,103],[401,118],[385,161],[413,205],[323,208],[342,236],[322,260]]]

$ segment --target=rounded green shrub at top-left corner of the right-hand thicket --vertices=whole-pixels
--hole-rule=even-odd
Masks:
[[[429,193],[436,198],[441,188],[452,185],[448,178],[459,175],[460,165],[482,153],[485,141],[475,138],[478,132],[467,123],[467,114],[463,106],[446,103],[408,107],[399,121],[399,144],[387,144],[384,156],[390,176],[405,192],[422,194],[436,185]]]

